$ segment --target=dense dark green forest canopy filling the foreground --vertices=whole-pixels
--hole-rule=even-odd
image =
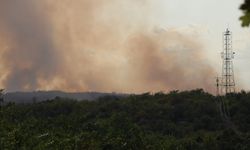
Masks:
[[[228,105],[223,120],[217,101]],[[97,101],[56,98],[0,110],[0,149],[247,150],[250,93],[145,93]]]

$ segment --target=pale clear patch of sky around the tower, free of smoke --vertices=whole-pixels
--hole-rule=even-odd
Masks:
[[[195,33],[202,39],[206,53],[221,72],[220,52],[222,32],[229,27],[233,32],[233,48],[236,52],[234,67],[236,83],[240,88],[250,89],[250,28],[242,28],[239,10],[243,0],[158,0],[155,22],[165,29],[179,28]],[[195,59],[195,58],[194,58]]]

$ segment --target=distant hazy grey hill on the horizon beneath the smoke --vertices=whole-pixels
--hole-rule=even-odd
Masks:
[[[62,91],[35,91],[35,92],[10,92],[4,95],[5,102],[15,103],[31,103],[41,102],[56,97],[69,98],[74,100],[96,100],[104,96],[126,96],[126,94],[118,93],[99,93],[99,92],[79,92],[79,93],[68,93]]]

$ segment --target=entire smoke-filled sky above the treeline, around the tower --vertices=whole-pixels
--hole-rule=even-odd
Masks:
[[[0,0],[7,91],[142,93],[204,88],[233,32],[237,89],[250,89],[250,29],[236,0]]]

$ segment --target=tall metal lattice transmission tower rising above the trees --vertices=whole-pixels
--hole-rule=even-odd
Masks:
[[[235,81],[233,71],[234,52],[232,49],[232,32],[228,29],[223,33],[223,52],[221,53],[222,77],[221,77],[221,94],[235,92]]]

